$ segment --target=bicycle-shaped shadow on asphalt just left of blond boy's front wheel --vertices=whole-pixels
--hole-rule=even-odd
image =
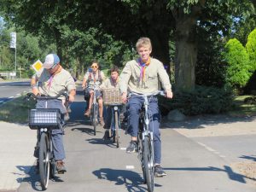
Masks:
[[[125,185],[129,192],[148,191],[144,184],[143,177],[141,177],[137,172],[102,168],[92,173],[99,179],[106,179],[114,182],[115,185]]]

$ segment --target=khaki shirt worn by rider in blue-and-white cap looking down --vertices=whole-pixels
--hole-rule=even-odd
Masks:
[[[38,90],[45,96],[57,96],[62,92],[68,93],[75,89],[76,85],[73,77],[63,68],[60,73],[56,73],[52,78],[46,69],[38,77]]]

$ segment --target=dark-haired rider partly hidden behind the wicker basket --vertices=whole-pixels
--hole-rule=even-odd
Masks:
[[[110,68],[110,77],[106,79],[102,85],[101,89],[119,89],[119,68],[113,66]],[[106,129],[103,139],[109,138],[109,129],[111,126],[111,119],[112,119],[112,111],[111,108],[106,108],[106,119],[104,128]]]

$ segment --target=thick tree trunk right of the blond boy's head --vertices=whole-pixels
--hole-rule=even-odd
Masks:
[[[196,19],[193,15],[179,12],[176,17],[175,84],[177,90],[195,88],[195,63],[197,42],[195,38]]]

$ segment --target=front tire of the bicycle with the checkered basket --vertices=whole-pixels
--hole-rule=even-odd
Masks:
[[[49,137],[43,132],[39,144],[39,175],[43,190],[47,189],[49,183],[49,153]]]

